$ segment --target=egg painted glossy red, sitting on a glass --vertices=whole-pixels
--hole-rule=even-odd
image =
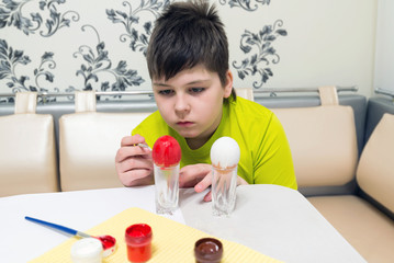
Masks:
[[[181,147],[173,137],[161,136],[154,145],[151,158],[158,167],[177,165],[181,160]]]

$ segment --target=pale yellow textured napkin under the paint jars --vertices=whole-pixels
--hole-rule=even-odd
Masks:
[[[153,254],[150,262],[159,263],[194,263],[194,243],[201,238],[212,237],[200,230],[155,215],[140,208],[128,208],[106,221],[87,231],[92,236],[111,235],[116,239],[117,249],[115,253],[105,258],[103,263],[128,262],[124,233],[128,226],[133,224],[148,224],[153,229]],[[215,238],[215,237],[213,237]],[[280,262],[263,255],[245,245],[218,239],[223,243],[222,263],[229,262],[254,262],[254,263],[277,263]],[[77,238],[70,238],[58,247],[52,249],[40,258],[31,261],[40,263],[66,263],[71,262],[70,250]]]

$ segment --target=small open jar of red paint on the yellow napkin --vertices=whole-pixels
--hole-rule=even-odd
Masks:
[[[151,228],[135,224],[126,229],[127,259],[130,262],[146,262],[151,256]]]

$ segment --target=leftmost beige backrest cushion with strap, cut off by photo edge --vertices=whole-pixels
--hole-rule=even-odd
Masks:
[[[0,117],[0,196],[58,191],[54,121],[36,103],[19,92],[14,114]]]

